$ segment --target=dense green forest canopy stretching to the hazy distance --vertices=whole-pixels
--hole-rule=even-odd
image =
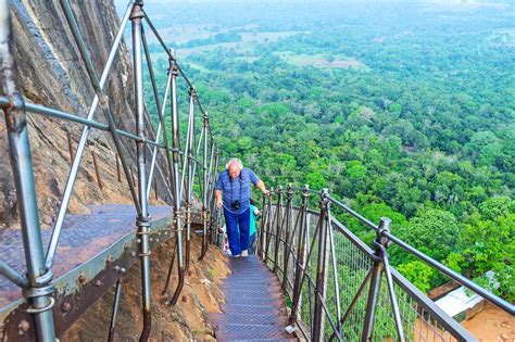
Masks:
[[[194,79],[224,159],[241,157],[269,186],[327,187],[369,219],[388,216],[399,237],[482,284],[493,270],[492,290],[515,300],[513,2],[146,10]],[[167,61],[150,47],[163,86]],[[391,254],[424,291],[447,281]]]

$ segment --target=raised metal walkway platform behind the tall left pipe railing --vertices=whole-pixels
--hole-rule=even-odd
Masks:
[[[136,211],[133,205],[105,204],[90,206],[91,214],[67,215],[53,265],[55,304],[52,308],[58,334],[65,331],[138,259]],[[171,206],[149,207],[151,214],[150,246],[156,248],[174,236]],[[201,221],[193,213],[193,223]],[[47,246],[51,230],[43,230]],[[25,271],[22,232],[0,232],[0,258],[20,273]],[[27,303],[15,284],[0,276],[0,321],[5,337],[16,341],[34,341],[34,329],[20,333]]]

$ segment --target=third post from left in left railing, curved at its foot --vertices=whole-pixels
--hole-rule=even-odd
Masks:
[[[172,296],[171,304],[175,305],[179,299],[180,292],[185,284],[185,267],[183,257],[183,213],[181,213],[181,201],[180,201],[180,185],[179,185],[179,116],[177,112],[177,65],[174,60],[169,60],[169,69],[172,72],[172,151],[174,162],[174,218],[177,229],[177,273],[178,283],[175,289],[174,295]]]

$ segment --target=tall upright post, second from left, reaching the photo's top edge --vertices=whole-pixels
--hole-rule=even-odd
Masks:
[[[143,103],[143,74],[142,74],[142,53],[141,53],[141,18],[143,12],[142,1],[137,1],[130,14],[133,23],[133,59],[134,59],[134,87],[135,87],[135,106],[136,106],[136,127],[137,135],[141,141],[136,142],[136,152],[138,159],[138,198],[141,212],[136,219],[138,227],[139,257],[141,258],[141,289],[142,289],[142,309],[143,309],[143,331],[139,338],[140,341],[147,341],[152,328],[151,316],[151,293],[150,293],[150,214],[147,197],[147,155],[145,132],[145,103]]]

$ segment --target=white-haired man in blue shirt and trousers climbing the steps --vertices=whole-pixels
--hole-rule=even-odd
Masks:
[[[216,206],[224,207],[227,238],[230,253],[235,256],[247,256],[249,249],[250,227],[250,183],[269,194],[265,183],[254,172],[243,167],[238,159],[231,159],[225,170],[219,173],[215,183]],[[238,231],[239,226],[239,231]]]

